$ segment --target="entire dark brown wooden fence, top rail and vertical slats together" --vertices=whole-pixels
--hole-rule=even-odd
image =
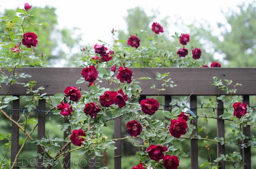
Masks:
[[[27,83],[30,80],[37,81],[37,86],[44,86],[44,92],[47,95],[54,95],[56,93],[63,93],[67,85],[69,86],[80,86],[81,84],[76,84],[76,81],[81,77],[82,68],[22,68],[17,69],[17,73],[29,74],[31,78],[20,78],[19,82]],[[202,95],[212,95],[217,96],[219,94],[216,86],[211,85],[212,77],[217,76],[222,79],[231,79],[233,83],[241,83],[242,86],[237,88],[237,95],[243,96],[243,102],[246,102],[249,105],[249,95],[256,95],[256,68],[131,68],[133,71],[133,78],[140,77],[150,77],[151,79],[141,80],[140,86],[143,88],[143,96],[152,96],[157,95],[156,90],[152,90],[150,85],[152,83],[156,86],[160,86],[161,82],[155,80],[155,73],[167,73],[170,72],[170,77],[177,84],[174,88],[168,88],[166,91],[162,92],[161,95],[165,96],[165,104],[171,102],[172,96],[178,95],[190,95],[193,91],[192,96],[190,97],[190,106],[197,107],[197,96]],[[102,83],[101,86],[107,86],[106,83]],[[110,86],[111,87],[111,86]],[[83,88],[83,87],[82,87]],[[196,88],[196,89],[195,89]],[[83,90],[86,90],[87,87],[84,87]],[[0,95],[4,95],[8,90],[7,86],[2,85]],[[22,96],[27,95],[26,90],[20,84],[15,84],[11,88],[9,95]],[[222,94],[222,93],[221,93]],[[223,93],[224,94],[224,93]],[[219,107],[223,108],[223,102],[219,102]],[[19,108],[19,100],[13,100],[13,109]],[[45,110],[45,100],[39,100],[38,103],[39,110]],[[197,110],[194,108],[193,112],[196,114]],[[217,111],[218,115],[223,114],[223,110]],[[19,111],[12,112],[12,118],[17,121],[19,119]],[[64,119],[64,122],[68,122],[67,119]],[[120,138],[121,133],[121,118],[114,120],[115,123],[115,138]],[[192,123],[196,126],[196,129],[193,130],[193,133],[197,132],[197,120],[193,119]],[[224,137],[224,120],[217,120],[217,137]],[[19,149],[19,129],[16,125],[12,125],[12,143],[11,143],[11,162],[14,161],[17,151]],[[249,136],[250,126],[243,127],[243,134]],[[44,137],[45,135],[45,113],[38,112],[38,139]],[[67,133],[64,132],[64,138],[67,136]],[[245,140],[244,142],[246,142]],[[191,169],[198,168],[198,140],[191,139]],[[117,149],[114,152],[114,168],[121,169],[121,141],[115,143]],[[70,149],[67,147],[66,149]],[[37,150],[38,153],[41,152],[41,149]],[[220,154],[225,153],[225,145],[217,145],[218,157]],[[64,158],[68,166],[64,168],[70,168],[70,154]],[[243,149],[243,161],[246,163],[244,169],[251,169],[251,149],[250,147]],[[225,169],[225,162],[220,162],[221,169]],[[42,167],[37,167],[42,168]],[[89,167],[90,169],[95,169],[95,166]]]

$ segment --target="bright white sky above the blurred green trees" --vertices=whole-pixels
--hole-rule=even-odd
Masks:
[[[236,5],[245,0],[129,0],[122,3],[121,0],[101,1],[64,1],[64,0],[0,0],[0,11],[3,9],[24,8],[24,3],[33,6],[44,7],[46,5],[56,7],[60,28],[78,27],[82,32],[81,44],[95,44],[97,40],[109,42],[111,30],[126,29],[123,19],[127,15],[127,9],[142,7],[148,15],[152,9],[158,9],[160,14],[158,20],[175,15],[182,18],[184,23],[191,23],[193,20],[207,20],[212,28],[217,28],[216,23],[225,23],[221,10],[227,8],[237,9]],[[251,2],[252,0],[247,0]],[[152,21],[153,22],[153,21]],[[171,25],[169,26],[171,29]],[[173,30],[169,30],[172,34]]]

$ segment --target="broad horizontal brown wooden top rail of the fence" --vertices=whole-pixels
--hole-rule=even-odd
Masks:
[[[108,68],[109,69],[109,68]],[[222,79],[231,79],[233,83],[241,83],[243,86],[237,87],[237,95],[256,95],[256,90],[251,90],[256,86],[256,68],[130,68],[133,71],[133,78],[151,77],[152,79],[140,80],[140,86],[143,88],[143,94],[157,95],[157,90],[152,90],[150,85],[156,84],[160,88],[162,81],[155,80],[155,73],[168,73],[170,78],[177,84],[174,88],[167,88],[162,95],[190,95],[194,90],[194,95],[218,95],[218,89],[211,85],[212,77],[217,76]],[[38,82],[37,86],[44,86],[48,95],[63,93],[67,85],[82,87],[82,90],[88,90],[84,84],[76,84],[80,79],[82,67],[78,68],[42,68],[25,67],[17,69],[17,73],[29,74],[31,78],[19,78],[19,82],[26,83],[31,80]],[[115,75],[117,72],[115,73]],[[107,87],[107,82],[103,81],[101,86]],[[114,84],[116,87],[117,84]],[[0,95],[7,91],[6,85],[2,85]],[[14,84],[9,95],[26,95],[25,87],[20,84]],[[224,94],[224,93],[221,93]]]

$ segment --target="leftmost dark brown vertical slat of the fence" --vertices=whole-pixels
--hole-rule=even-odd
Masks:
[[[19,96],[17,96],[19,97]],[[19,109],[20,108],[20,99],[13,100],[13,109]],[[19,120],[19,110],[13,110],[12,111],[12,119],[15,121]],[[17,125],[12,123],[11,127],[11,164],[13,164],[15,160],[15,156],[18,153],[19,150],[19,128]],[[19,167],[14,167],[14,169],[18,169]]]

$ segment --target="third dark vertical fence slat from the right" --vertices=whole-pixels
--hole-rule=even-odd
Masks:
[[[197,99],[196,95],[190,96],[190,107],[197,107]],[[197,109],[192,109],[195,115],[197,115]],[[191,121],[194,126],[196,126],[196,129],[193,130],[192,134],[197,133],[197,120],[193,119]],[[191,158],[191,169],[198,169],[198,144],[197,139],[191,139],[190,140],[190,158]]]

